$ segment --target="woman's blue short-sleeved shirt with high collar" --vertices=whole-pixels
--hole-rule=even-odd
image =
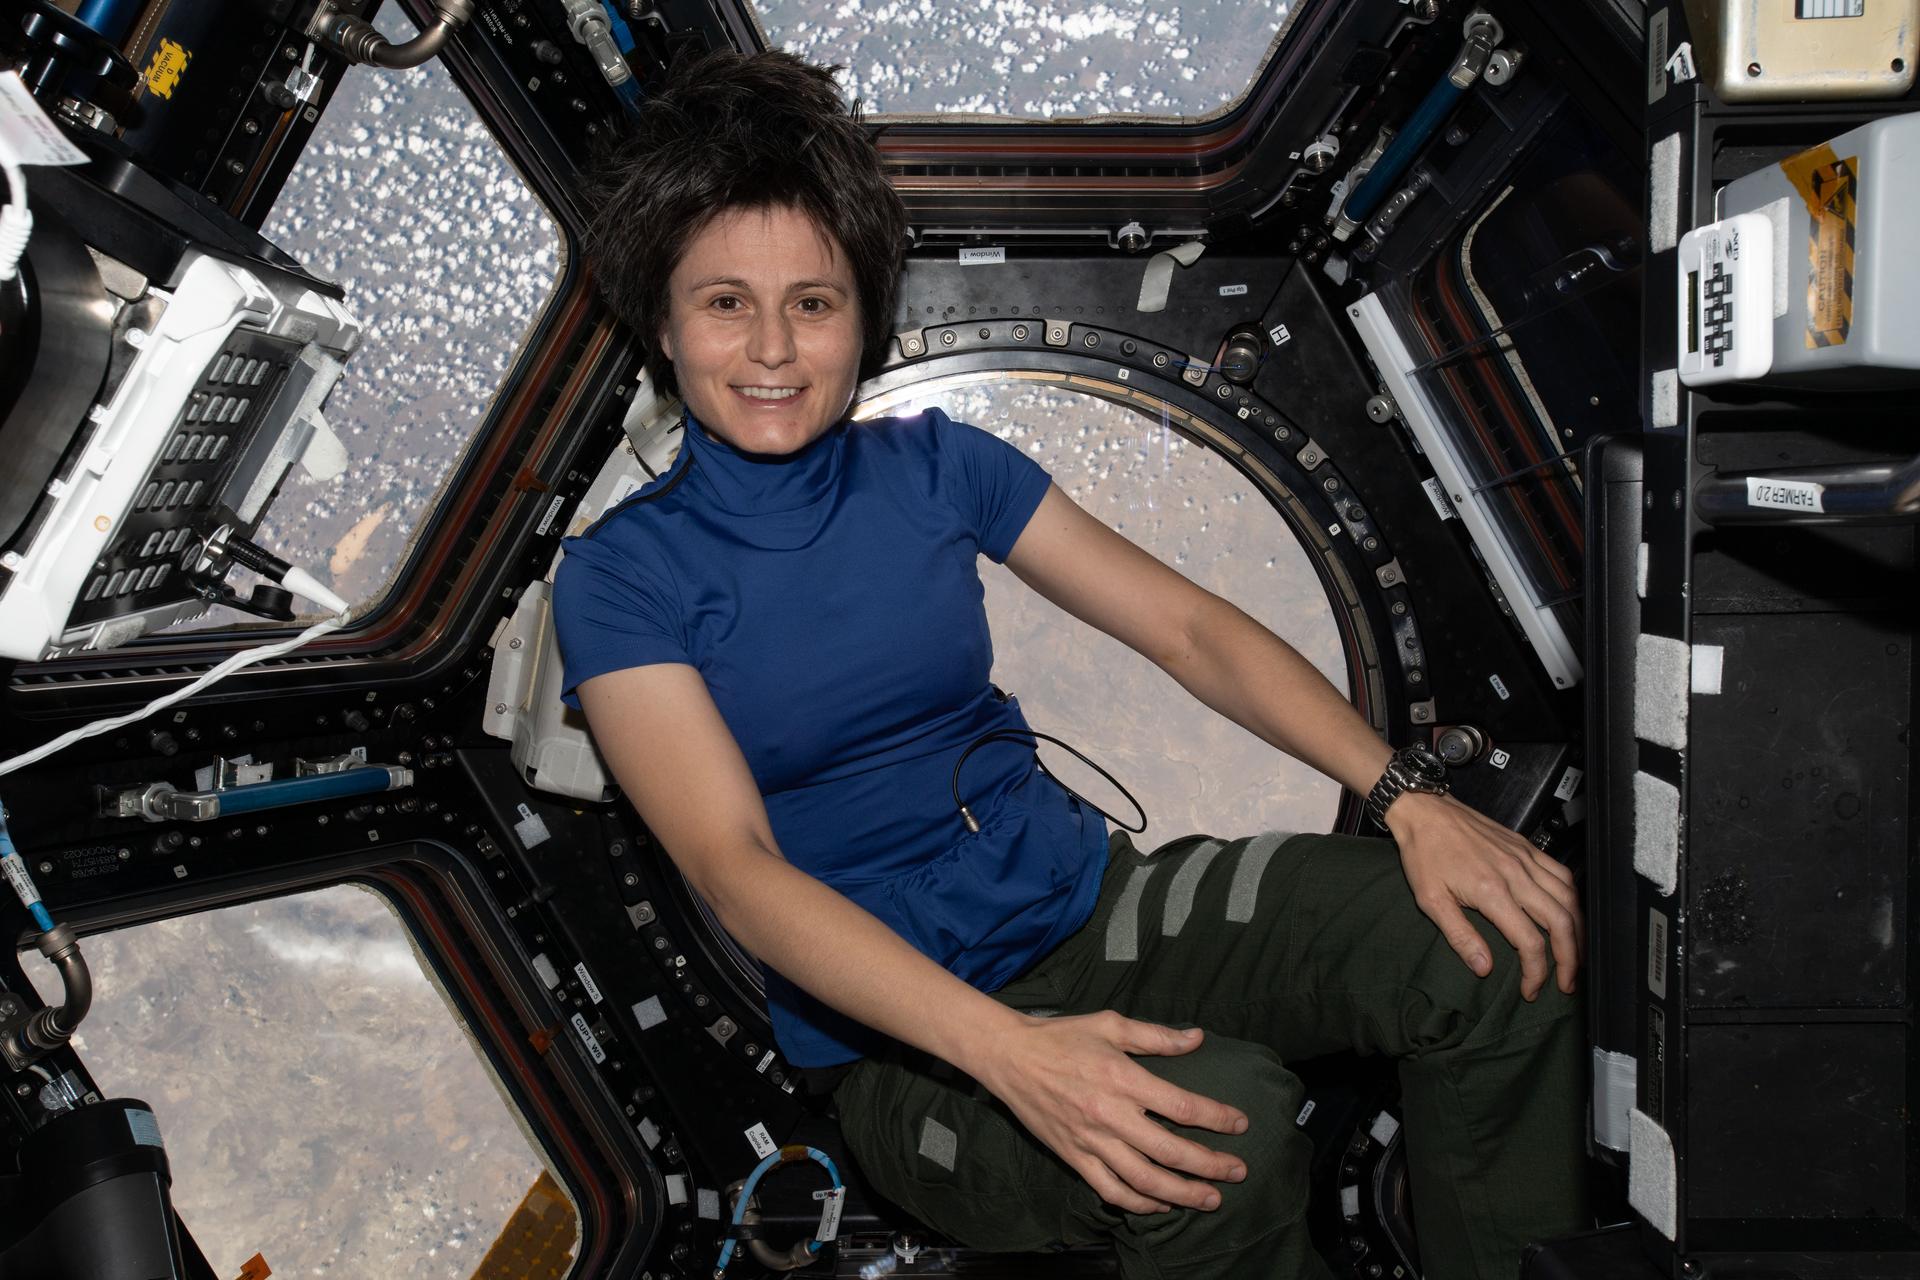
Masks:
[[[580,537],[553,583],[566,700],[603,672],[701,672],[803,871],[979,990],[1020,977],[1092,913],[1106,823],[1035,768],[991,683],[977,557],[1004,560],[1046,495],[1014,445],[952,422],[841,422],[785,457],[685,443]],[[670,748],[670,747],[668,747]],[[833,946],[833,938],[818,938]],[[820,1067],[885,1036],[766,973],[780,1048]]]

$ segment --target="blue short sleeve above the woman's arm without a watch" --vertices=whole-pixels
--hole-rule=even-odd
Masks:
[[[691,666],[682,616],[680,591],[664,564],[647,572],[605,541],[566,539],[553,576],[563,700],[578,708],[580,685],[607,672],[655,662]]]

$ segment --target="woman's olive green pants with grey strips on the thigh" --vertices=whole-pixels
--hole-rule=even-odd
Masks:
[[[998,1100],[910,1050],[839,1082],[841,1128],[883,1196],[968,1247],[1110,1240],[1129,1280],[1319,1280],[1311,1144],[1294,1126],[1304,1088],[1284,1063],[1388,1054],[1400,1059],[1425,1274],[1513,1280],[1526,1242],[1590,1226],[1584,1032],[1551,981],[1524,1002],[1513,948],[1469,919],[1494,956],[1486,979],[1413,904],[1390,841],[1187,837],[1144,856],[1114,835],[1092,917],[995,998],[1204,1027],[1198,1050],[1135,1061],[1246,1111],[1238,1136],[1160,1121],[1246,1163],[1244,1182],[1215,1184],[1212,1213],[1102,1201]]]

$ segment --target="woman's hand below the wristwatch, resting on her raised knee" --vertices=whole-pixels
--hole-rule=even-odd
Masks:
[[[1492,921],[1521,954],[1521,994],[1526,1000],[1546,986],[1548,942],[1559,988],[1572,994],[1586,946],[1572,871],[1453,796],[1404,793],[1386,810],[1386,829],[1400,844],[1413,900],[1469,969],[1486,977],[1494,960],[1461,908]]]

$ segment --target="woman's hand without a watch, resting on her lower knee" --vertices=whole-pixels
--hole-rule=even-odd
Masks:
[[[1202,1032],[1142,1023],[1114,1011],[1021,1017],[972,1073],[1027,1130],[1073,1167],[1100,1199],[1131,1213],[1173,1205],[1219,1207],[1200,1178],[1240,1182],[1238,1157],[1213,1151],[1154,1123],[1246,1132],[1246,1115],[1162,1080],[1127,1054],[1190,1054]]]

